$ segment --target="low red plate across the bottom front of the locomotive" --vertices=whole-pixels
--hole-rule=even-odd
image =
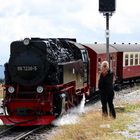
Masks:
[[[20,116],[0,116],[0,119],[5,125],[15,126],[33,126],[33,125],[48,125],[55,119],[55,116],[34,116],[34,117],[20,117]]]

